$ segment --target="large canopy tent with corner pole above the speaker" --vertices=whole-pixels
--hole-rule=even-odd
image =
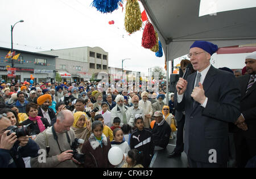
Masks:
[[[204,16],[199,16],[199,0],[141,0],[141,2],[158,32],[168,62],[187,54],[189,46],[195,40],[210,41],[219,48],[256,43],[256,1],[254,0],[251,1],[252,8],[216,11],[217,13],[213,15]],[[218,6],[220,3],[221,1],[218,2]],[[236,2],[230,0],[230,4],[232,3]],[[167,64],[167,90],[168,67]]]

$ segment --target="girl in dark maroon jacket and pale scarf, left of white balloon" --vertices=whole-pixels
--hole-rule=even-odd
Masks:
[[[104,125],[101,121],[92,123],[92,132],[89,140],[82,146],[82,154],[85,154],[85,168],[110,168],[108,153],[111,148],[109,139],[103,134]]]

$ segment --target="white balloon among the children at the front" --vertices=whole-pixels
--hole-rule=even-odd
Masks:
[[[123,160],[123,151],[119,147],[112,147],[108,154],[109,162],[112,165],[118,165]]]

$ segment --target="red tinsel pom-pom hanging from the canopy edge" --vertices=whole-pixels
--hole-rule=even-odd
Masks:
[[[142,35],[142,46],[146,49],[151,49],[156,44],[155,29],[153,25],[148,22],[143,31]]]

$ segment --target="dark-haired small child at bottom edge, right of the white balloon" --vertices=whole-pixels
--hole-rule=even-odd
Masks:
[[[130,150],[126,156],[126,163],[122,168],[143,168],[143,154],[136,149]]]

